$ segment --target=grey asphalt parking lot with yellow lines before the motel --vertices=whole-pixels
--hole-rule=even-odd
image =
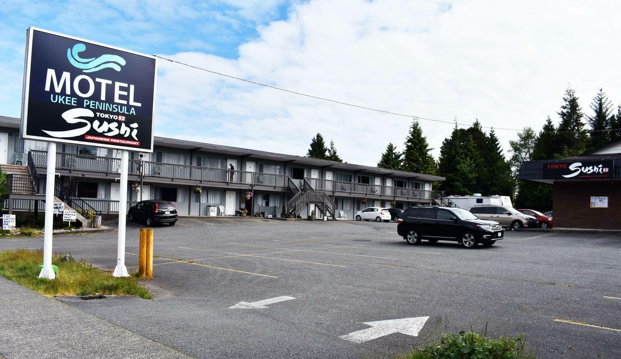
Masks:
[[[128,225],[128,268],[137,266],[140,227]],[[59,235],[54,251],[112,270],[116,236]],[[0,248],[42,243],[2,239]],[[182,218],[155,227],[154,247],[152,301],[63,300],[196,358],[359,358],[414,340],[373,339],[381,330],[364,330],[384,324],[365,323],[418,317],[429,317],[419,319],[421,336],[438,317],[450,332],[487,324],[526,334],[542,358],[621,353],[618,235],[506,232],[468,250],[408,245],[392,222]]]

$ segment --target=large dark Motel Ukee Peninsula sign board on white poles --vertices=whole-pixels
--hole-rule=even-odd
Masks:
[[[27,30],[24,139],[153,152],[155,57]]]

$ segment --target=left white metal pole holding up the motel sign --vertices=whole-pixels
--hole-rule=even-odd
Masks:
[[[56,142],[47,143],[47,176],[45,178],[45,227],[43,234],[43,268],[39,278],[54,279],[52,269],[52,230],[54,222],[54,181],[56,176]]]

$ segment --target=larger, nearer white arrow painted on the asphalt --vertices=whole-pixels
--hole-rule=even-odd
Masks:
[[[403,319],[378,320],[377,322],[366,322],[372,328],[358,330],[350,334],[341,335],[340,339],[349,340],[355,343],[364,343],[369,340],[378,339],[384,335],[402,333],[418,337],[429,317],[415,317]]]

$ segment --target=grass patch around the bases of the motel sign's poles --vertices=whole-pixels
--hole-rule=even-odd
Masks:
[[[63,257],[65,259],[63,260]],[[0,275],[46,296],[138,296],[151,299],[147,288],[132,277],[114,277],[94,268],[84,260],[55,255],[52,264],[58,266],[56,279],[39,278],[43,252],[19,249],[0,252]]]

